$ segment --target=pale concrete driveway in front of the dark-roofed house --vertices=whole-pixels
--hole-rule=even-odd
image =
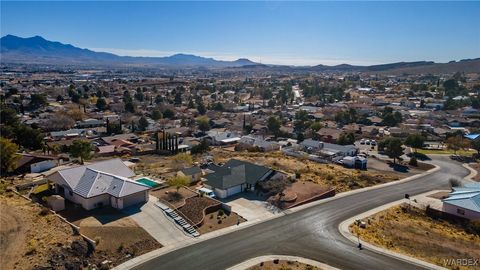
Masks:
[[[258,198],[254,194],[240,193],[224,200],[232,211],[249,221],[265,220],[282,213],[280,209]]]

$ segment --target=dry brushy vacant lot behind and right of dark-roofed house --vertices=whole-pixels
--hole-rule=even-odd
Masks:
[[[216,162],[225,162],[231,158],[248,160],[283,171],[290,175],[300,175],[300,180],[310,181],[321,186],[334,187],[338,192],[373,186],[400,179],[402,175],[385,172],[369,172],[346,169],[334,164],[320,164],[310,160],[285,156],[281,152],[251,153],[230,152],[215,148],[211,151]]]

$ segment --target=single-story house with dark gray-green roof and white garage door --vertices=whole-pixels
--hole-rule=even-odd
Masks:
[[[211,164],[207,171],[211,173],[205,176],[205,185],[221,199],[245,190],[254,190],[258,182],[275,175],[270,168],[237,159],[231,159],[223,166]]]

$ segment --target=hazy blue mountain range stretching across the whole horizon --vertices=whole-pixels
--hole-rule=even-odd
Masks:
[[[49,41],[40,36],[21,38],[6,35],[0,39],[2,64],[48,64],[88,66],[140,66],[164,68],[236,68],[256,70],[290,70],[297,72],[368,72],[368,73],[450,73],[480,72],[480,58],[435,63],[432,61],[398,62],[391,64],[354,66],[279,66],[266,65],[240,58],[223,61],[191,54],[174,54],[166,57],[118,56],[112,53],[81,49],[70,44]]]

